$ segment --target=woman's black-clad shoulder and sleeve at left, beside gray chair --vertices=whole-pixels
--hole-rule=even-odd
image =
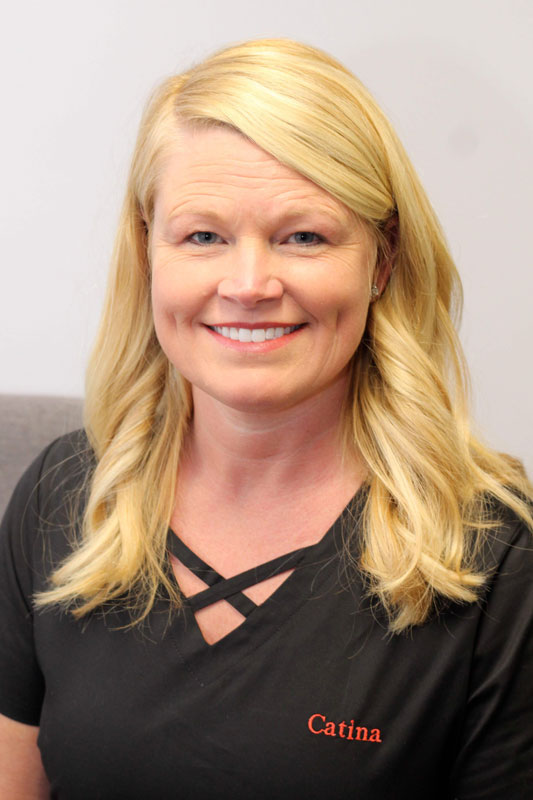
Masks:
[[[0,708],[29,725],[39,723],[44,694],[33,598],[69,553],[79,519],[71,501],[83,502],[91,463],[82,431],[53,441],[20,478],[0,525]]]

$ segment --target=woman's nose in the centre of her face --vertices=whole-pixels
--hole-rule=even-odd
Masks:
[[[218,285],[218,294],[244,308],[265,300],[278,300],[283,284],[274,274],[274,254],[259,242],[242,243],[230,255],[228,273]]]

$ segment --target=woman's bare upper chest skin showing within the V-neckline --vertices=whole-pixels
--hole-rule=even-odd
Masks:
[[[184,494],[184,496],[182,496]],[[293,572],[292,562],[283,556],[316,545],[325,537],[346,504],[344,487],[329,505],[316,505],[308,497],[303,503],[272,503],[264,498],[241,507],[225,502],[217,504],[209,493],[202,502],[191,502],[193,492],[181,493],[171,520],[170,562],[176,582],[185,598],[208,594],[210,583],[217,589],[228,579],[254,571],[251,579],[230,596],[229,602],[213,599],[194,610],[196,624],[207,644],[222,640],[242,625],[246,615],[261,606]],[[316,497],[314,497],[316,501]],[[214,505],[213,505],[214,503]],[[213,506],[213,507],[211,507]],[[218,508],[218,513],[215,509]],[[172,531],[179,532],[179,548]],[[282,563],[263,570],[276,557]],[[210,571],[212,580],[206,582]],[[221,593],[215,591],[216,596]],[[235,599],[242,602],[236,603]]]

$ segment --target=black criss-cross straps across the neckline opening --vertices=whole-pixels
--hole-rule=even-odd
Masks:
[[[289,569],[294,569],[298,566],[306,551],[309,550],[309,547],[301,547],[298,550],[273,558],[265,564],[240,572],[232,578],[224,578],[213,567],[199,558],[196,553],[193,553],[172,530],[169,531],[168,546],[172,554],[187,569],[190,569],[204,583],[207,583],[209,587],[187,598],[187,602],[193,611],[206,608],[206,606],[210,606],[218,600],[226,600],[245,617],[251,614],[257,608],[257,605],[243,594],[242,590],[256,583],[261,583],[261,581],[265,581],[268,578],[273,578],[275,575],[279,575]]]

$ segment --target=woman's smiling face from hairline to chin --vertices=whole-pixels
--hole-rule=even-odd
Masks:
[[[345,380],[376,248],[342,203],[227,128],[180,131],[155,197],[156,333],[216,402],[293,407]]]

